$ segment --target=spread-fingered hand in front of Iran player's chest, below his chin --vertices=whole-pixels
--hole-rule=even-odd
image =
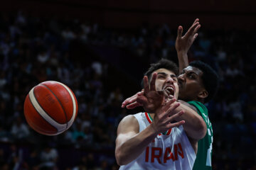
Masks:
[[[181,120],[177,123],[171,123],[184,113],[184,111],[175,111],[175,109],[180,106],[180,103],[175,101],[176,98],[172,98],[165,103],[164,106],[157,109],[156,113],[154,114],[154,120],[151,123],[151,127],[156,133],[165,132],[170,128],[178,127],[179,125],[183,125],[185,123],[185,120]]]

